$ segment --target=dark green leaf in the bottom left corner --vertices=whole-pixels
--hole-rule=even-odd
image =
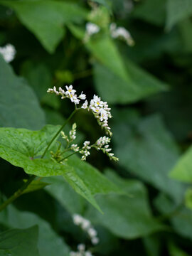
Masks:
[[[0,255],[38,256],[38,227],[11,229],[0,233]]]

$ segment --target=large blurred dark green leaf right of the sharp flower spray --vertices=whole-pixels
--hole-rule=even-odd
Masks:
[[[126,120],[127,119],[127,120]],[[177,201],[183,198],[184,187],[169,178],[179,151],[161,117],[144,119],[122,111],[114,126],[114,144],[119,164],[127,171],[166,192]]]

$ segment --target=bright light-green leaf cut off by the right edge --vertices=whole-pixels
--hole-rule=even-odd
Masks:
[[[176,165],[172,169],[170,176],[179,181],[192,181],[192,146],[178,159]]]

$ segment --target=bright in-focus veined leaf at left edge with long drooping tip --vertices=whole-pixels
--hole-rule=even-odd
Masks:
[[[59,164],[52,159],[36,158],[43,154],[48,142],[58,131],[58,126],[47,125],[40,131],[27,129],[0,129],[0,156],[14,166],[22,167],[27,174],[36,176],[63,176],[77,193],[84,196],[98,210],[99,206],[82,179],[68,164]]]

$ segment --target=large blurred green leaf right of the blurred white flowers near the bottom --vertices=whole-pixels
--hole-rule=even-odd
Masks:
[[[117,184],[122,183],[126,195],[97,195],[104,215],[93,208],[85,214],[95,225],[103,225],[119,238],[134,239],[149,235],[164,227],[151,215],[144,185],[135,180],[125,180],[115,174],[107,174]],[[131,195],[131,196],[130,196]],[[142,210],[141,210],[142,209]]]

